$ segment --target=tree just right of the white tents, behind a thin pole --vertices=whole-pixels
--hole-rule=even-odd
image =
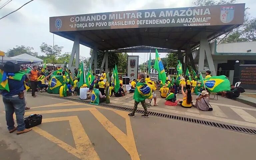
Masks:
[[[54,45],[52,47],[51,45],[48,45],[48,44],[43,42],[40,45],[40,49],[41,49],[41,52],[45,53],[47,56],[56,56],[56,57],[58,57],[61,54],[63,46]]]

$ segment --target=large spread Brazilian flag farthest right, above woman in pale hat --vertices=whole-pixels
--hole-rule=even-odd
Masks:
[[[213,76],[203,80],[205,87],[210,92],[230,91],[230,81],[226,76]]]

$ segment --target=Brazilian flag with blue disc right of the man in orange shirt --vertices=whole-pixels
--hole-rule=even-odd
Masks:
[[[59,94],[60,87],[63,85],[63,81],[63,76],[51,75],[47,92]]]

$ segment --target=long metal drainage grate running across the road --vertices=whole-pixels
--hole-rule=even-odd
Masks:
[[[74,101],[74,102],[90,103],[89,101],[85,101],[85,100],[81,100],[81,99],[73,99],[73,98],[68,98],[68,97],[59,97],[59,96],[47,95],[47,94],[41,94],[41,95],[44,95],[44,96],[47,96],[47,97],[54,97],[54,98],[59,98],[59,99],[70,100],[70,101]],[[119,109],[119,110],[123,110],[123,111],[129,111],[129,112],[132,111],[132,108],[120,107],[120,106],[115,106],[115,105],[106,104],[106,103],[100,103],[99,106],[104,106],[104,107],[108,107],[108,108],[114,108],[114,109]],[[137,110],[136,113],[143,114],[144,110]],[[211,127],[216,127],[216,128],[227,129],[227,130],[231,130],[231,131],[256,135],[256,130],[255,129],[231,126],[231,125],[227,125],[227,124],[221,124],[221,123],[199,120],[199,119],[194,119],[194,118],[181,117],[181,116],[176,116],[176,115],[169,115],[169,114],[152,112],[152,111],[149,111],[148,114],[151,115],[151,116],[157,116],[157,117],[162,117],[162,118],[186,121],[186,122],[190,122],[190,123],[196,123],[196,124],[201,124],[201,125],[206,125],[206,126],[211,126]]]

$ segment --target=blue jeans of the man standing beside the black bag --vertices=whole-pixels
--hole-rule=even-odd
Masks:
[[[14,129],[13,113],[16,114],[16,122],[18,124],[17,130],[23,131],[25,129],[24,113],[25,113],[25,98],[3,96],[5,106],[5,118],[8,130]]]

